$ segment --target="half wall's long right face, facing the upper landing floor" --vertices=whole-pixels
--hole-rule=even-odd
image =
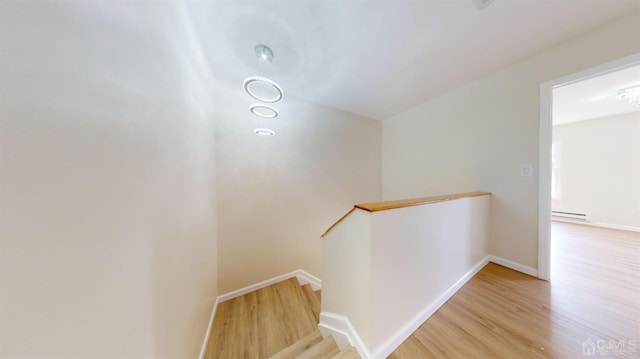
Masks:
[[[372,214],[374,357],[391,354],[432,306],[442,304],[438,299],[487,258],[490,200],[461,198]]]

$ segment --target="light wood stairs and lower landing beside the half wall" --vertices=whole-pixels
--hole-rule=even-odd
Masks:
[[[358,358],[318,330],[320,291],[291,278],[218,305],[206,359]]]

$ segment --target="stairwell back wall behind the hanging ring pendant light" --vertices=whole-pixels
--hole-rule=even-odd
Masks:
[[[296,269],[320,277],[320,235],[354,203],[380,199],[381,123],[284,91],[280,117],[261,123],[241,81],[216,86],[221,293]]]

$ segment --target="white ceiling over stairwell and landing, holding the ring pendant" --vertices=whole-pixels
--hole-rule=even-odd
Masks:
[[[640,0],[190,1],[215,74],[386,119],[615,18]],[[256,44],[275,53],[259,64]],[[239,85],[241,86],[241,85]]]

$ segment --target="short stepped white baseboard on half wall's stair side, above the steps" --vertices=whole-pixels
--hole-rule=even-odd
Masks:
[[[322,337],[333,336],[338,348],[344,350],[348,346],[353,346],[362,359],[371,359],[371,354],[367,346],[358,335],[356,329],[351,325],[349,318],[344,315],[322,312],[320,313],[320,324],[318,328]]]

